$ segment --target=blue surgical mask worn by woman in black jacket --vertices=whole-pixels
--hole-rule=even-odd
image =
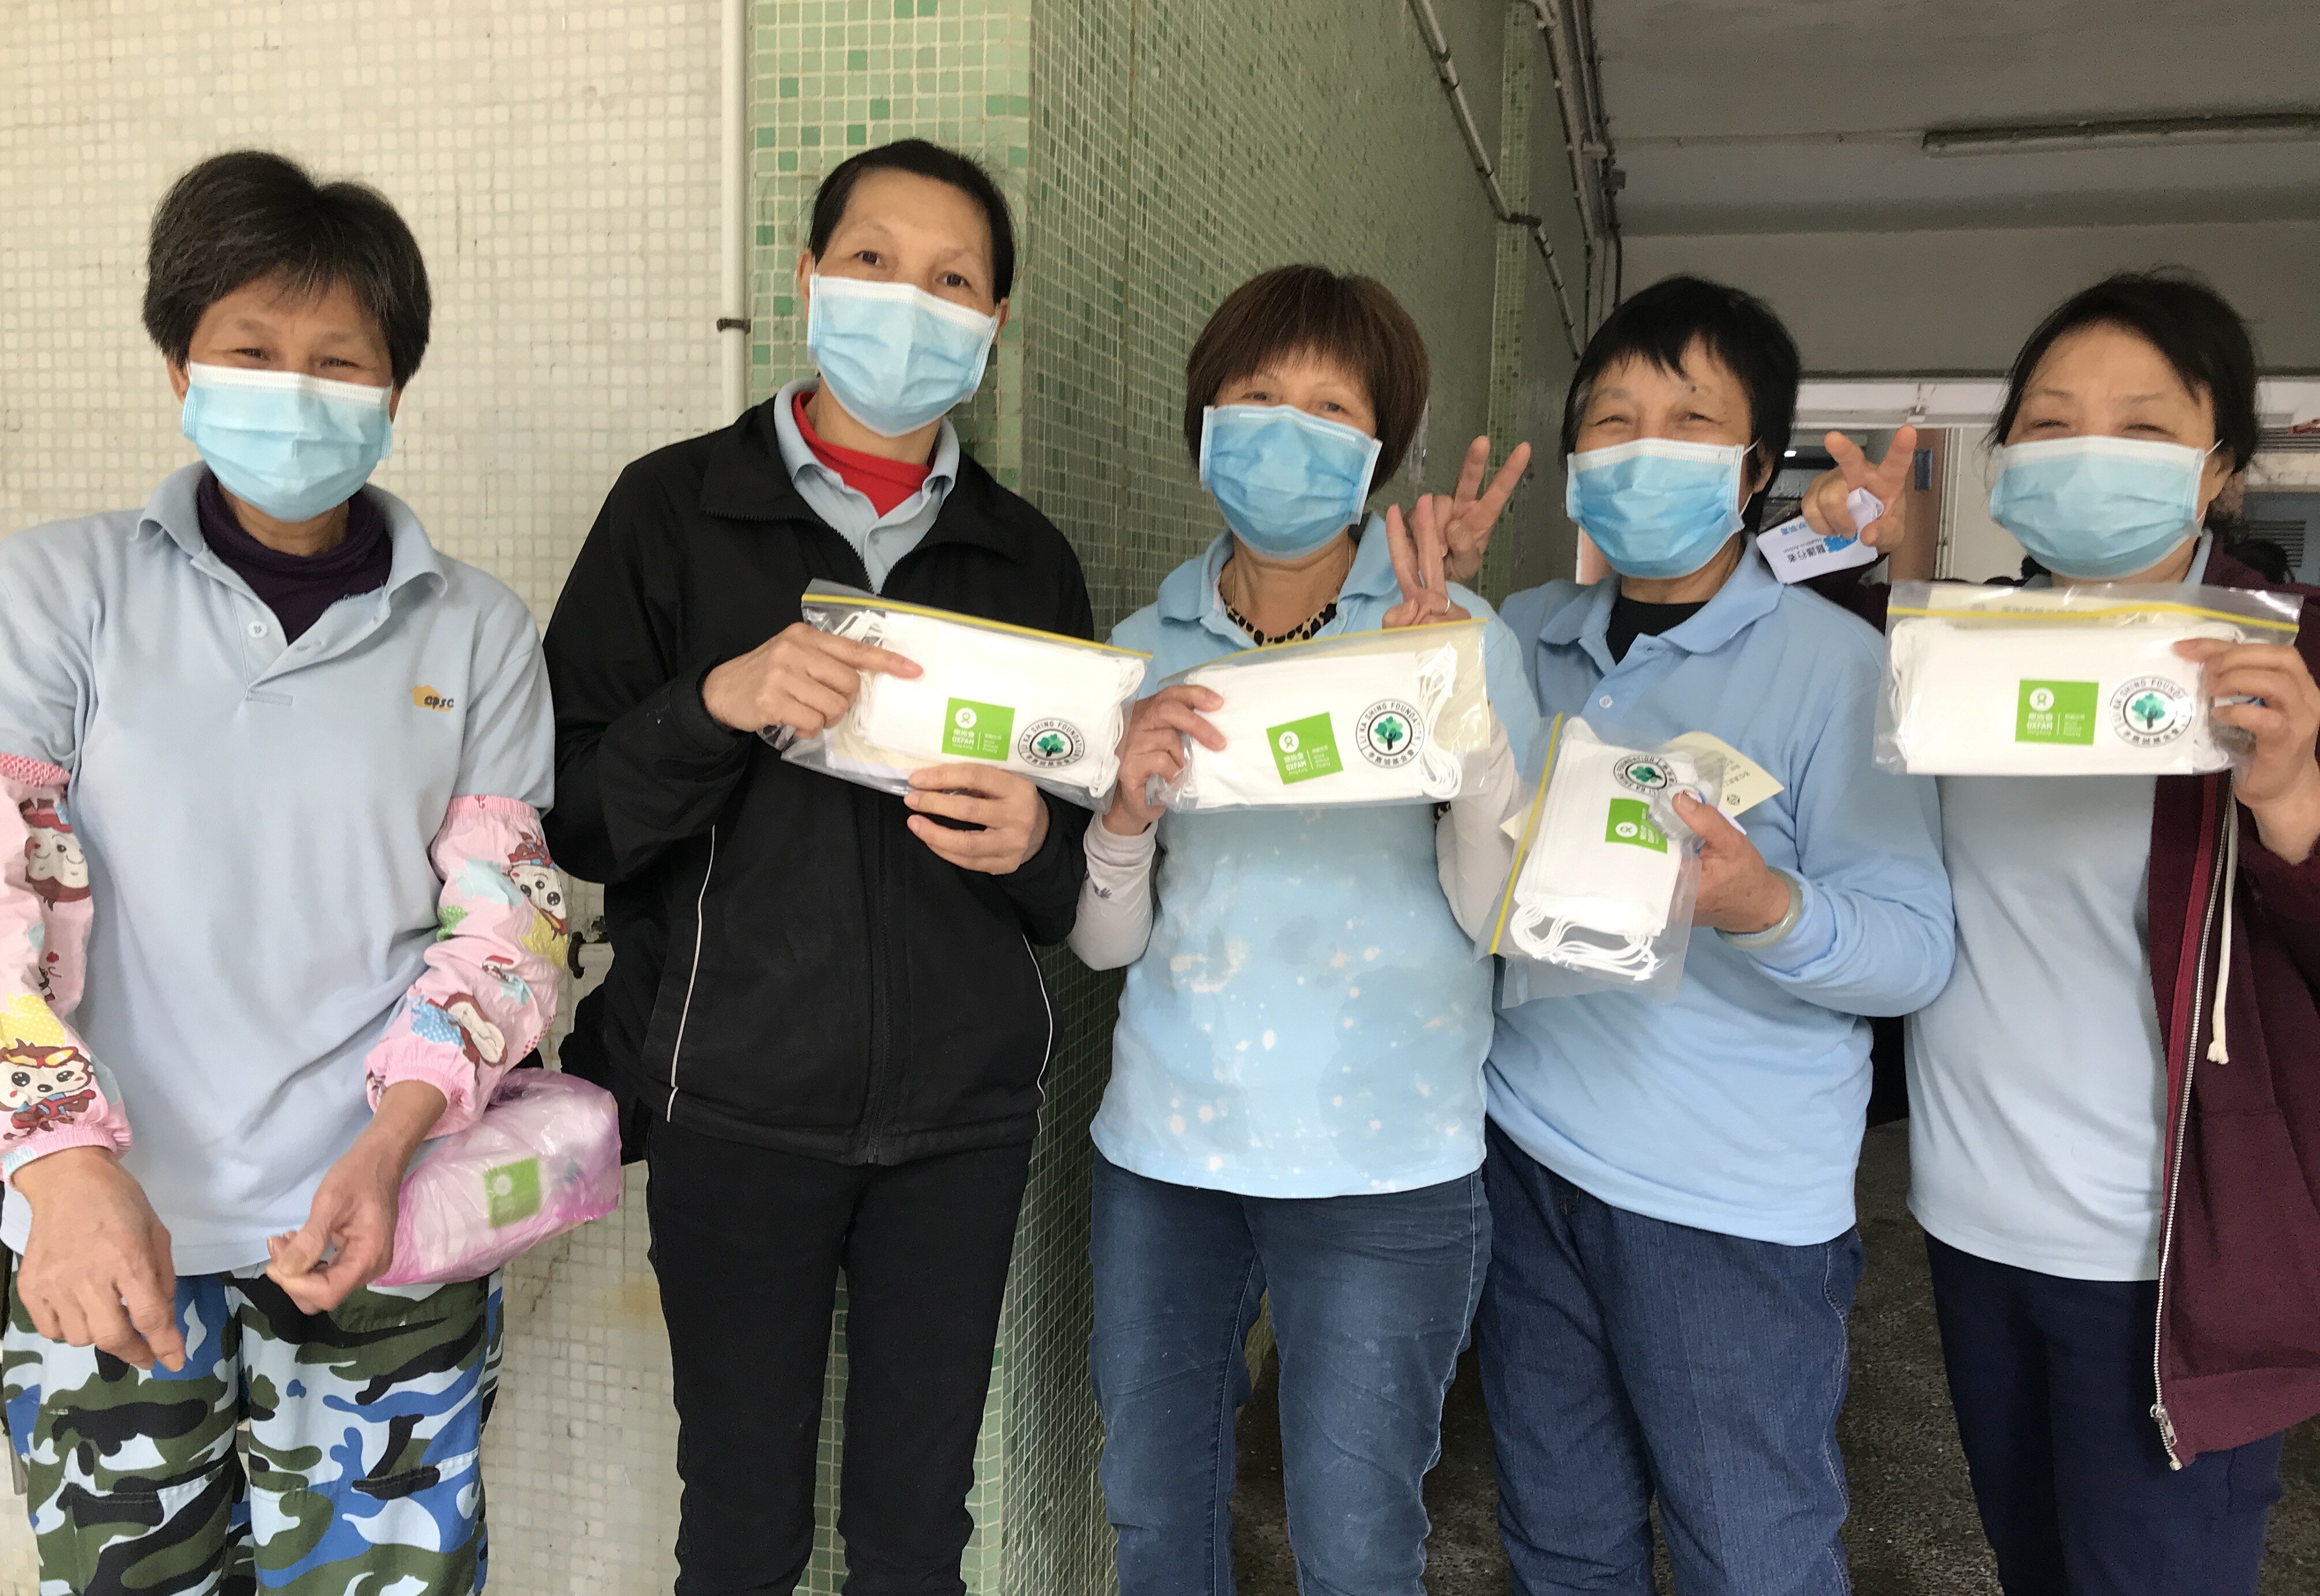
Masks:
[[[807,278],[805,348],[831,397],[882,438],[919,431],[984,380],[998,318],[856,276]]]

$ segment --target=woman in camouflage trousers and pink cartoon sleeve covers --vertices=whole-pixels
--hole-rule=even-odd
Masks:
[[[364,487],[394,209],[262,151],[153,216],[202,459],[0,543],[0,1236],[42,1589],[483,1584],[496,1276],[376,1287],[554,1016],[531,615]],[[246,1424],[248,1475],[237,1461]]]

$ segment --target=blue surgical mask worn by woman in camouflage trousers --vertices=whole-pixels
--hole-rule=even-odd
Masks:
[[[297,371],[186,367],[186,438],[234,499],[311,522],[394,452],[385,387]]]

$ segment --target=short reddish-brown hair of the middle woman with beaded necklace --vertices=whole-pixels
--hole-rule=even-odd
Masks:
[[[1378,415],[1378,469],[1369,480],[1394,476],[1427,413],[1427,341],[1385,283],[1329,267],[1274,267],[1248,278],[1192,339],[1183,362],[1183,445],[1192,459],[1202,413],[1225,383],[1283,355],[1320,355],[1360,378]]]

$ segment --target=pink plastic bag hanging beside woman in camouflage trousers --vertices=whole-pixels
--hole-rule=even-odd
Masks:
[[[394,1269],[378,1285],[476,1281],[619,1206],[619,1104],[601,1086],[510,1069],[483,1118],[404,1174]]]

